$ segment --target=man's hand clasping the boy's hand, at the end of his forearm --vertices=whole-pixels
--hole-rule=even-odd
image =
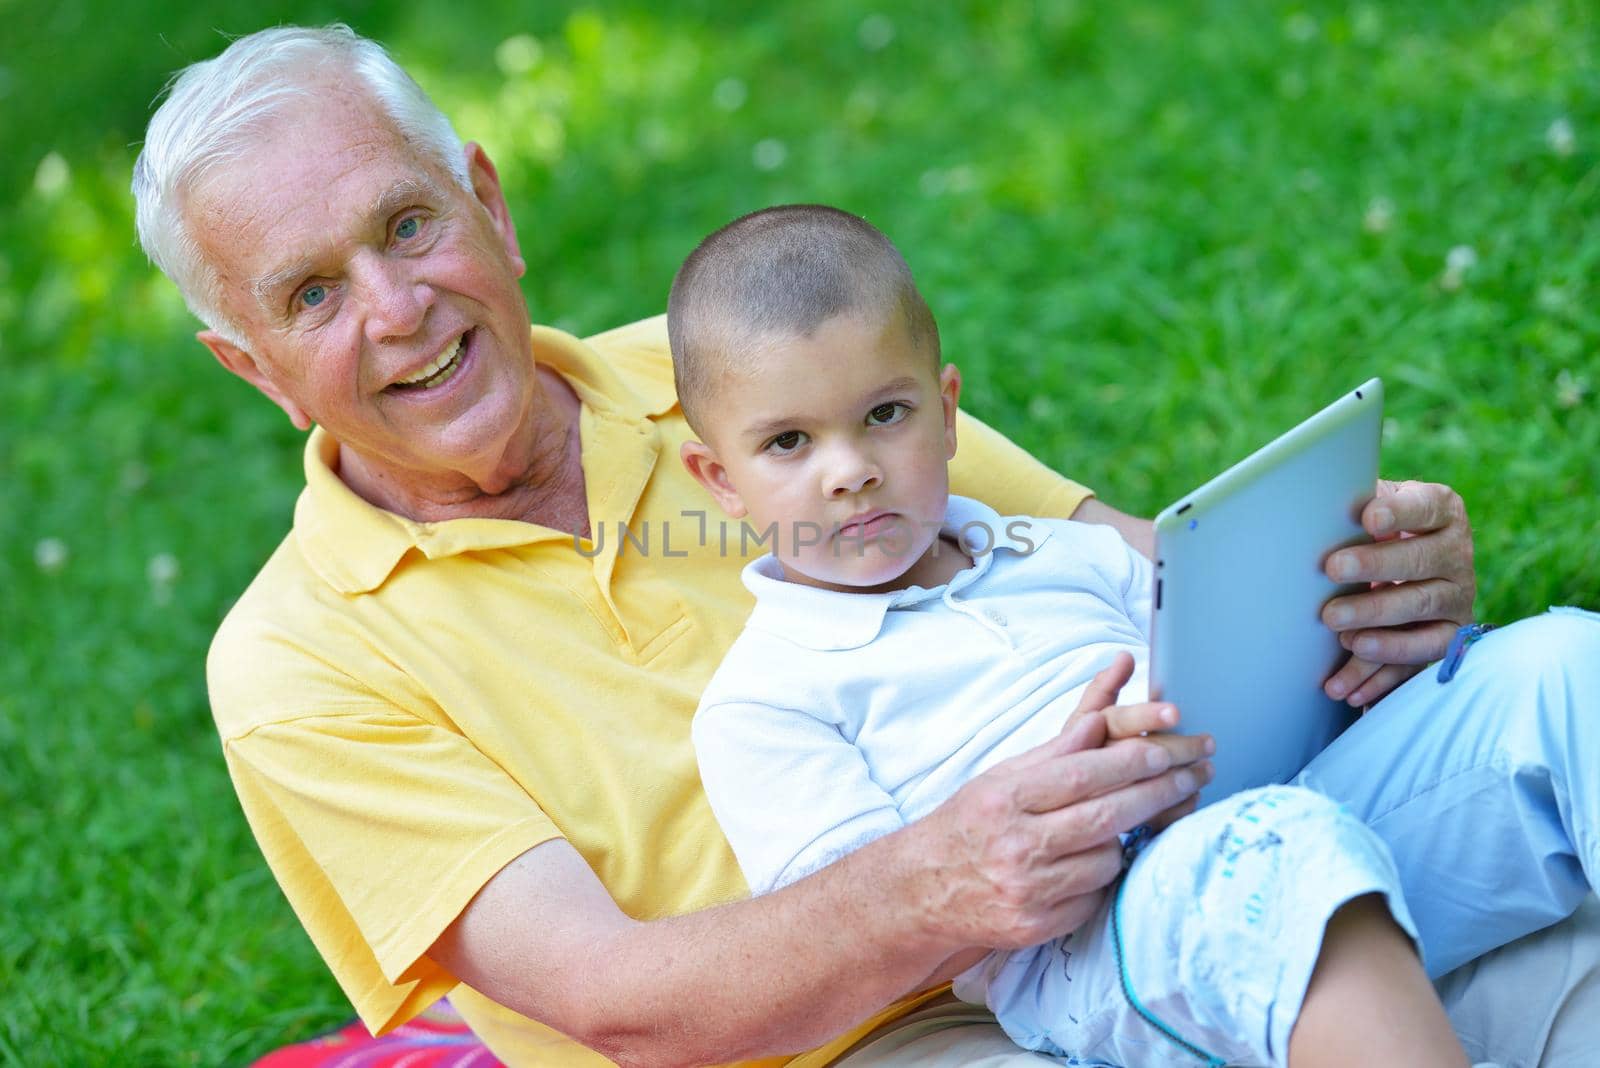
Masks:
[[[917,902],[930,932],[1022,948],[1075,931],[1122,871],[1117,835],[1211,779],[1202,739],[1107,739],[1102,713],[1075,715],[1056,739],[995,764],[899,833],[933,862]]]

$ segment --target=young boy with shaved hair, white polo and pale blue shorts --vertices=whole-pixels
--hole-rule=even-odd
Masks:
[[[701,436],[683,464],[773,545],[694,719],[752,892],[1050,740],[1107,662],[1128,683],[1122,654],[1142,699],[1149,561],[1109,528],[949,496],[960,374],[874,227],[819,206],[731,222],[678,272],[669,333]],[[1075,1063],[1466,1063],[1394,862],[1336,804],[1269,787],[1141,841],[1083,927],[933,978]]]

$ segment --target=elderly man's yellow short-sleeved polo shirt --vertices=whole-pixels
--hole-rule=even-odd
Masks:
[[[496,871],[558,836],[637,919],[746,895],[690,718],[763,548],[678,462],[691,432],[662,318],[587,342],[536,326],[533,345],[582,401],[590,537],[384,512],[339,481],[317,430],[294,528],[206,673],[245,815],[366,1026],[450,993],[507,1063],[590,1065],[606,1062],[427,950]],[[974,419],[958,435],[954,491],[1002,515],[1067,516],[1088,496]]]

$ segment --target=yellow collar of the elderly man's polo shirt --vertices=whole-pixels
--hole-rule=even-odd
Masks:
[[[672,368],[650,347],[654,320],[600,334],[592,342],[549,326],[533,328],[533,358],[557,371],[581,404],[597,419],[637,424],[654,433],[650,420],[677,404]],[[597,350],[597,347],[600,350]],[[624,381],[611,361],[632,369]],[[429,560],[456,553],[509,548],[552,539],[571,539],[517,520],[464,518],[422,523],[379,508],[358,497],[334,465],[339,443],[322,427],[306,441],[306,489],[294,504],[294,539],[310,568],[341,593],[381,587],[400,561],[416,550]],[[582,457],[584,473],[606,457]]]

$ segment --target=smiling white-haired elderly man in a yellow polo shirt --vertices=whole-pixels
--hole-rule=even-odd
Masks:
[[[1198,750],[1064,735],[750,900],[688,743],[747,611],[742,560],[672,462],[688,428],[661,323],[587,342],[530,326],[488,155],[342,27],[264,30],[186,70],[134,193],[200,341],[317,425],[294,529],[218,633],[210,684],[245,814],[370,1028],[453,991],[512,1063],[813,1049],[792,1062],[810,1065],[851,1044],[851,1063],[1030,1058],[918,982],[957,950],[1086,918],[1118,873],[1115,833],[1182,812]],[[954,480],[1002,512],[1150,537],[973,420]],[[1328,689],[1354,703],[1437,657],[1474,592],[1448,489],[1386,488],[1365,521],[1418,537],[1330,558],[1339,579],[1406,580],[1328,606],[1358,654]],[[1390,769],[1453,751],[1426,727],[1350,745]],[[1326,788],[1358,812],[1382,803],[1371,783]],[[1538,868],[1574,851],[1525,852]],[[1403,875],[1453,875],[1418,865]],[[1587,892],[1581,871],[1544,875],[1451,951]]]

